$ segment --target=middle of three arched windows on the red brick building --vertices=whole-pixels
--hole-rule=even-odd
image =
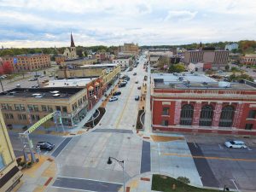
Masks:
[[[205,105],[201,108],[201,115],[199,125],[211,126],[212,125],[213,108],[211,105]]]

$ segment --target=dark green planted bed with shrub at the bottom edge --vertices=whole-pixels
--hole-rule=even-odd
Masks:
[[[163,175],[154,174],[152,177],[151,190],[164,191],[164,192],[216,192],[220,190],[203,189],[191,186],[189,179],[186,177],[179,177],[179,180]],[[183,181],[183,182],[182,182]],[[221,190],[222,191],[222,190]]]

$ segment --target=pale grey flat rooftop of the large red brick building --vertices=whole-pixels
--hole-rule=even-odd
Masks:
[[[247,80],[218,82],[199,73],[153,73],[152,78],[160,89],[256,90],[256,84]]]

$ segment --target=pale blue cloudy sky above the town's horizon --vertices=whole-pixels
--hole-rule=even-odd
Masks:
[[[255,0],[0,0],[0,46],[255,40]]]

